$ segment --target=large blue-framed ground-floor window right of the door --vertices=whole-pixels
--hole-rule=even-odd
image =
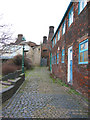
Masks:
[[[79,44],[79,64],[88,64],[88,39]]]

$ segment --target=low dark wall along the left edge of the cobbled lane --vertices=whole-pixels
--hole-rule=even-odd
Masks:
[[[12,85],[10,87],[1,91],[0,94],[2,94],[2,103],[11,98],[25,80],[25,74],[20,74],[19,76],[20,77],[16,78],[14,81],[11,81]]]

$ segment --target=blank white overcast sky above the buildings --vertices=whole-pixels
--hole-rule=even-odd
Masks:
[[[71,0],[0,0],[4,24],[12,24],[14,37],[40,44],[48,37],[49,26],[56,30]]]

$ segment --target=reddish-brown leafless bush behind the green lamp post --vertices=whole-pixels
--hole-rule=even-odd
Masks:
[[[32,67],[32,62],[29,58],[24,58],[24,65],[26,69],[30,69]],[[22,68],[22,55],[16,55],[13,59],[6,61],[2,64],[2,74],[7,75],[9,73],[13,73],[16,70],[20,70]]]

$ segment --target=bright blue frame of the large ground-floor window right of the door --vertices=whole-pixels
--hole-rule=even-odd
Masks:
[[[83,42],[79,43],[79,64],[88,64],[88,61],[84,61],[84,52],[88,51],[88,47],[87,47],[87,49],[81,50],[81,45],[82,44],[85,45],[86,42],[88,42],[88,39],[86,39]],[[83,53],[83,62],[80,62],[80,53]]]

